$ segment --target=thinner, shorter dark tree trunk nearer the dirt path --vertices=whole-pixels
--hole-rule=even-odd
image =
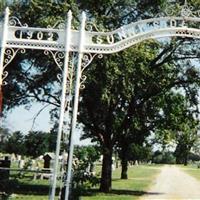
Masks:
[[[127,160],[127,146],[123,145],[121,154],[121,179],[128,179],[128,160]]]

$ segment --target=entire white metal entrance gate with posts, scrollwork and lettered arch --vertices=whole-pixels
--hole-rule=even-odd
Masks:
[[[37,28],[28,27],[27,24],[22,24],[18,18],[10,17],[9,9],[6,9],[4,20],[0,23],[0,87],[5,84],[5,78],[8,75],[5,70],[6,66],[12,61],[17,52],[24,53],[26,49],[43,50],[45,55],[52,55],[56,65],[62,72],[62,76],[58,76],[59,80],[62,77],[62,94],[50,200],[55,198],[61,134],[64,114],[68,110],[69,101],[72,99],[68,96],[71,94],[71,88],[73,88],[74,100],[65,182],[66,200],[69,196],[71,179],[79,89],[83,86],[85,80],[82,75],[84,69],[95,56],[102,57],[102,54],[116,53],[147,39],[172,36],[200,38],[200,29],[198,28],[200,25],[200,11],[193,11],[187,1],[184,5],[179,6],[178,11],[176,10],[175,13],[173,13],[173,9],[173,7],[168,7],[163,15],[124,25],[111,32],[93,31],[95,26],[88,26],[84,12],[81,16],[80,28],[74,30],[71,25],[71,11],[68,12],[66,23],[59,22],[53,27]],[[76,59],[76,62],[74,62],[74,59]],[[72,87],[73,82],[74,86]]]

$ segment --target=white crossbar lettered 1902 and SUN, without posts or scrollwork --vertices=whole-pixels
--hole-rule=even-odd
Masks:
[[[25,48],[50,51],[65,50],[65,26],[33,28],[17,24],[11,18],[8,26],[7,48]],[[17,26],[16,26],[17,25]],[[160,17],[122,26],[111,32],[85,31],[83,52],[111,54],[151,38],[181,36],[200,37],[200,19],[197,17]],[[71,29],[69,51],[78,52],[80,30]]]

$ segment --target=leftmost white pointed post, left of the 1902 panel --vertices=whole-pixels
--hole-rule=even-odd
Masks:
[[[8,23],[9,23],[9,8],[7,7],[5,10],[5,17],[3,23],[3,32],[2,32],[2,40],[1,40],[1,53],[0,53],[0,95],[2,95],[2,85],[3,85],[3,70],[4,70],[4,53],[6,49],[6,40],[8,36]],[[2,97],[0,97],[2,98]],[[0,105],[1,106],[1,105]]]

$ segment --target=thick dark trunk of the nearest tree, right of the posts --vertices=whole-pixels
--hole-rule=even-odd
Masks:
[[[103,163],[101,171],[100,191],[108,193],[112,186],[112,145],[106,145],[103,149]]]

